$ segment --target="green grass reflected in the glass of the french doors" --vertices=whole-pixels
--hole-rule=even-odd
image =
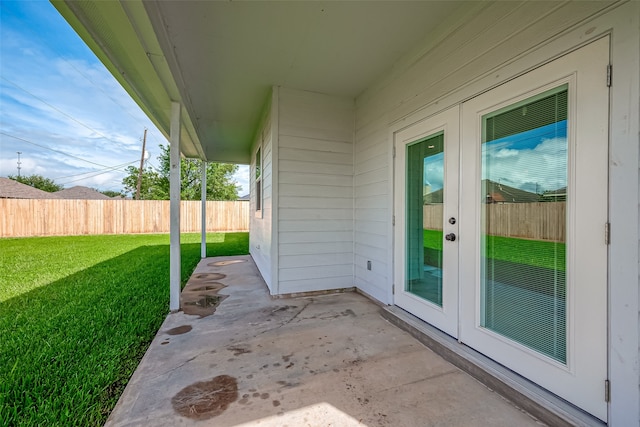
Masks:
[[[442,250],[442,231],[424,230],[424,247]],[[565,271],[565,245],[541,240],[487,236],[489,258]],[[559,262],[559,264],[558,264]]]

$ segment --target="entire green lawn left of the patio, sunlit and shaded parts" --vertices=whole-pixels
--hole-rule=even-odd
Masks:
[[[248,253],[248,233],[207,255]],[[200,235],[182,235],[183,283]],[[0,424],[102,425],[169,306],[169,236],[0,239]]]

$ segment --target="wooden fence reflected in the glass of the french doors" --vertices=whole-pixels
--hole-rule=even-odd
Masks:
[[[487,218],[485,232],[491,236],[564,242],[565,205],[565,202],[483,204],[486,211],[482,222]],[[423,212],[424,228],[442,230],[442,205],[424,205]]]

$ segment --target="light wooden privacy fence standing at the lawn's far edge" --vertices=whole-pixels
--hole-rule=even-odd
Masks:
[[[180,202],[180,231],[201,231],[201,202]],[[249,203],[208,201],[207,231],[249,231]],[[0,199],[0,237],[168,233],[168,200]]]

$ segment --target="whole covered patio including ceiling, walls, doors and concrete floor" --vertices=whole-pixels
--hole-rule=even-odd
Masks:
[[[184,423],[219,376],[216,425],[529,420],[451,362],[548,424],[640,425],[639,2],[53,3],[171,148],[173,313],[110,423]],[[182,300],[181,156],[251,188],[250,258]],[[499,219],[491,182],[527,197]]]

